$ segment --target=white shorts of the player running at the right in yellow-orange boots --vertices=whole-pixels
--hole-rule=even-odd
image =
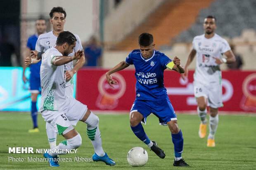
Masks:
[[[196,98],[206,97],[208,99],[208,105],[212,108],[223,107],[222,104],[222,85],[206,86],[199,82],[193,82],[194,84],[194,96]]]

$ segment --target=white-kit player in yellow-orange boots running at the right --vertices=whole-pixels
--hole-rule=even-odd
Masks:
[[[215,16],[204,19],[205,33],[194,37],[193,49],[185,65],[183,79],[187,78],[188,66],[196,56],[196,70],[194,72],[194,96],[197,99],[197,113],[201,119],[199,137],[206,136],[207,105],[209,105],[209,135],[207,147],[215,147],[215,133],[218,126],[218,108],[222,103],[222,82],[220,64],[235,62],[235,56],[228,42],[214,33],[216,29]],[[223,54],[227,58],[223,57]]]

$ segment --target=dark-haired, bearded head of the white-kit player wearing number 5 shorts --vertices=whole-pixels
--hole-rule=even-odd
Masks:
[[[73,52],[73,48],[76,46],[76,36],[69,31],[59,33],[56,46],[62,46],[63,56],[68,56],[69,53]]]

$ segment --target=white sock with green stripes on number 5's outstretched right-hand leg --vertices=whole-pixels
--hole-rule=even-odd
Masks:
[[[87,135],[92,142],[95,153],[100,157],[104,156],[105,152],[102,148],[99,129],[99,117],[91,112],[85,123],[87,124]]]

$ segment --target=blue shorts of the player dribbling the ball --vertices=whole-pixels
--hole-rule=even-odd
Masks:
[[[158,117],[160,125],[166,126],[168,121],[177,120],[176,114],[168,96],[156,101],[135,99],[133,106],[130,109],[130,114],[133,112],[140,112],[140,114],[142,114],[144,117],[142,123],[144,124],[146,124],[147,116],[149,116],[151,113]]]

